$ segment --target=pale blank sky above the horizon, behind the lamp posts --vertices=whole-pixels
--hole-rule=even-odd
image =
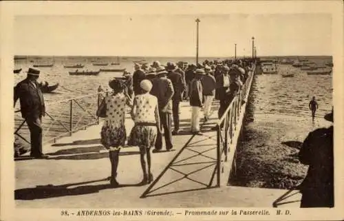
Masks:
[[[20,55],[332,55],[331,14],[32,15],[14,17]]]

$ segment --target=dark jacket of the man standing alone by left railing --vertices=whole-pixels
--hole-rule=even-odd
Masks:
[[[21,104],[21,116],[23,118],[40,118],[45,116],[43,94],[39,84],[32,85],[28,78],[19,82],[14,87],[14,105],[19,99]]]

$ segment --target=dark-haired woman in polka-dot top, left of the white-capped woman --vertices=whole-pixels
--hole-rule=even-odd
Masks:
[[[100,132],[100,142],[109,149],[111,162],[110,184],[118,186],[116,180],[118,167],[118,154],[120,147],[125,145],[127,138],[125,131],[125,110],[126,105],[131,106],[132,101],[125,90],[125,85],[117,79],[111,80],[109,86],[114,90],[113,94],[107,95],[103,102],[106,105],[106,117]],[[101,106],[101,105],[100,105]]]

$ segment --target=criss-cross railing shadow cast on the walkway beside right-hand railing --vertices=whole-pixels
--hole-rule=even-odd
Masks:
[[[201,130],[203,131],[203,125],[201,126]],[[164,170],[159,174],[159,176],[155,180],[153,180],[151,185],[149,185],[149,187],[144,191],[144,193],[142,193],[140,198],[147,198],[151,196],[162,196],[162,195],[167,195],[167,194],[172,194],[172,193],[183,193],[183,192],[197,191],[197,190],[203,190],[203,189],[213,189],[215,187],[218,187],[217,185],[213,184],[213,180],[215,178],[215,174],[217,171],[217,159],[214,158],[213,156],[207,155],[208,151],[216,151],[216,140],[214,140],[213,136],[210,136],[210,135],[211,134],[204,134],[202,136],[192,135],[189,138],[189,140],[186,141],[184,147],[180,149],[178,154],[175,155],[175,157],[171,160],[171,162],[169,162],[169,164],[164,168]],[[201,157],[202,160],[200,160],[199,157]],[[195,161],[195,158],[196,158],[196,161]],[[182,170],[183,168],[189,168],[189,170],[186,169],[186,171],[183,171]],[[164,183],[163,181],[160,182],[162,177],[168,171],[179,173],[182,177],[177,178],[175,180],[168,181],[166,183]],[[200,171],[203,171],[203,173],[206,173],[206,176],[201,176],[199,174]],[[196,173],[197,173],[197,176],[200,176],[198,178],[206,177],[206,180],[199,180],[197,176],[195,177]],[[194,184],[197,184],[198,187],[191,186],[190,189],[182,189],[182,190],[178,190],[178,189],[171,190],[171,187],[170,187],[170,190],[160,191],[161,189],[164,189],[164,187],[167,187],[167,189],[169,189],[168,186],[175,185],[176,183],[182,180],[191,181]],[[160,184],[160,186],[158,185],[158,183]],[[186,186],[182,185],[182,187],[185,188]]]

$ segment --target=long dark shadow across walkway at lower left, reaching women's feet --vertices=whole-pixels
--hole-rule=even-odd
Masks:
[[[123,184],[118,187],[111,187],[109,184],[102,185],[86,185],[92,182],[107,181],[107,178],[102,180],[92,180],[87,182],[70,183],[66,185],[45,185],[36,186],[34,188],[16,189],[14,191],[14,200],[36,200],[45,198],[55,198],[61,196],[76,196],[89,193],[97,193],[103,189],[117,189],[122,187],[138,187],[140,184]],[[83,185],[80,187],[68,188],[75,185]]]

